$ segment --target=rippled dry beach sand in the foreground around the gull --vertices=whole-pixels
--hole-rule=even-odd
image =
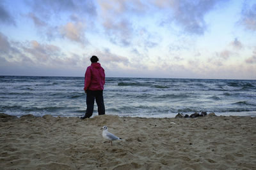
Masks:
[[[0,169],[256,169],[256,118],[0,117]]]

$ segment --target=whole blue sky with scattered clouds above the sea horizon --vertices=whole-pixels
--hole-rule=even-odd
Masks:
[[[0,0],[0,75],[256,80],[256,1]]]

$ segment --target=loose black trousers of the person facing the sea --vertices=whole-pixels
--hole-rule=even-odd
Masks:
[[[105,105],[103,99],[103,90],[87,90],[86,93],[86,113],[85,117],[92,117],[94,101],[96,100],[99,115],[105,115]]]

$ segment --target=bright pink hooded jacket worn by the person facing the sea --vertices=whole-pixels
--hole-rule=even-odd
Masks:
[[[99,62],[93,62],[84,74],[84,90],[103,90],[105,72]]]

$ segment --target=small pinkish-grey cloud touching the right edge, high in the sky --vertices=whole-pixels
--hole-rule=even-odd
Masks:
[[[256,31],[256,3],[252,6],[248,6],[248,4],[244,3],[241,14],[240,23],[243,24],[246,29]]]

